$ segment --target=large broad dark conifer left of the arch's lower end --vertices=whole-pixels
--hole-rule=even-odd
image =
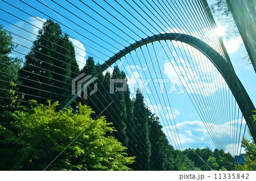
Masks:
[[[68,35],[63,35],[59,24],[50,19],[44,22],[25,58],[19,74],[24,78],[20,81],[27,87],[20,87],[20,91],[34,95],[26,95],[26,100],[36,99],[40,103],[45,103],[45,99],[63,101],[71,94],[71,79],[79,74],[79,66],[75,60],[75,48]]]

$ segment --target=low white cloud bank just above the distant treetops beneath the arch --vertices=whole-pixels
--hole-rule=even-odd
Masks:
[[[238,122],[238,128],[236,127]],[[214,124],[214,123],[203,123],[202,121],[185,121],[183,123],[176,124],[177,131],[179,132],[180,141],[183,142],[183,147],[186,147],[186,144],[192,146],[193,148],[202,147],[212,145],[212,148],[215,148],[212,141],[212,138],[209,136],[208,130],[212,132],[214,137],[220,142],[222,149],[225,151],[229,151],[231,153],[231,149],[234,147],[232,140],[229,140],[228,137],[234,137],[234,133],[240,131],[240,120],[228,121],[224,124]],[[207,128],[208,127],[208,130]],[[167,134],[173,134],[176,131],[175,127],[166,127],[163,128],[163,131]],[[242,120],[242,129],[245,128],[245,120]],[[237,142],[238,142],[237,135]],[[170,136],[171,137],[171,136]],[[235,137],[236,139],[236,137]],[[174,140],[171,140],[174,142]],[[236,144],[237,148],[237,144]]]

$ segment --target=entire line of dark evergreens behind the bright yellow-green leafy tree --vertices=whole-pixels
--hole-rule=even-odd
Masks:
[[[63,102],[71,94],[73,78],[81,73],[90,75],[100,66],[94,62],[93,57],[88,57],[84,68],[79,70],[72,41],[61,31],[59,24],[52,20],[43,24],[22,65],[20,60],[9,56],[14,48],[12,37],[5,31],[0,31],[0,37],[1,46],[5,47],[0,48],[1,64],[9,65],[0,66],[1,71],[7,71],[7,74],[1,74],[1,80],[6,81],[2,83],[0,96],[9,98],[1,100],[3,111],[7,107],[17,106],[17,99],[22,100],[24,106],[31,99],[42,104],[47,99]],[[207,170],[188,150],[174,150],[162,131],[159,118],[145,105],[139,89],[135,98],[131,99],[129,85],[126,91],[118,91],[117,88],[122,87],[122,83],[115,82],[114,87],[111,87],[111,79],[125,79],[127,82],[125,72],[114,66],[112,74],[107,71],[88,86],[90,92],[97,84],[97,92],[89,95],[88,99],[77,98],[76,102],[92,108],[92,119],[103,115],[112,124],[115,129],[109,129],[105,136],[113,136],[127,147],[127,155],[135,157],[135,162],[130,166],[133,170]],[[12,81],[18,84],[9,83]],[[23,94],[16,96],[17,92],[19,95]],[[75,103],[72,108],[79,112]],[[11,123],[10,120],[6,121]],[[207,154],[209,159],[212,154]],[[224,156],[230,162],[231,159]],[[214,158],[217,160],[217,157]],[[209,162],[213,163],[214,160],[210,159]],[[218,164],[225,166],[228,163]]]

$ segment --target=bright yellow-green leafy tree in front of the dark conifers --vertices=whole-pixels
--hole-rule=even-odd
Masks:
[[[12,126],[0,125],[0,170],[43,170],[77,139],[48,167],[48,170],[129,170],[134,157],[127,157],[125,146],[106,132],[114,132],[111,123],[101,116],[93,120],[88,106],[56,112],[58,103],[39,104],[26,111],[15,111]],[[22,160],[22,161],[20,161]]]

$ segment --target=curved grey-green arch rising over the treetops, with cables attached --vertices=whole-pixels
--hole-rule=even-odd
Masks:
[[[125,56],[127,53],[130,53],[134,49],[142,47],[145,44],[152,43],[154,41],[160,40],[175,40],[180,41],[186,44],[191,45],[192,47],[200,50],[209,60],[213,63],[214,66],[220,71],[222,77],[225,79],[228,84],[230,90],[232,91],[234,98],[237,101],[238,106],[245,117],[247,126],[253,136],[254,141],[256,142],[256,124],[253,123],[253,118],[251,117],[252,111],[255,110],[253,103],[249,95],[247,94],[245,88],[243,87],[240,79],[238,79],[236,73],[233,68],[224,60],[222,56],[208,44],[204,43],[197,39],[196,37],[180,34],[180,33],[163,33],[159,35],[154,35],[147,37],[146,39],[142,39],[140,41],[136,41],[134,44],[131,44],[129,47],[119,51],[113,57],[109,58],[104,64],[99,66],[91,76],[82,82],[82,86],[78,89],[75,95],[70,95],[63,104],[60,105],[59,110],[63,110],[67,108],[71,103],[77,98],[77,96],[81,95],[81,93],[85,90],[85,88],[92,83],[96,77],[98,77],[104,70],[108,69],[110,65],[114,64],[114,62],[118,61],[120,58]]]

